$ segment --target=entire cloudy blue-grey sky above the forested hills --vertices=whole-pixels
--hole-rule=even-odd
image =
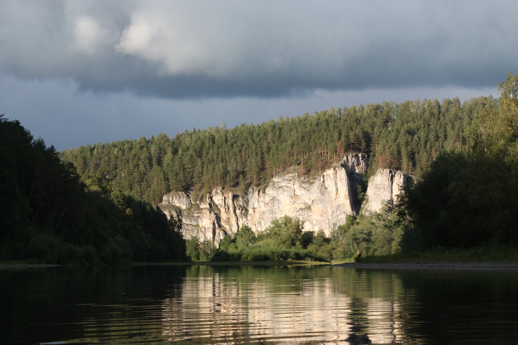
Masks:
[[[63,150],[497,94],[516,1],[0,1],[0,114]]]

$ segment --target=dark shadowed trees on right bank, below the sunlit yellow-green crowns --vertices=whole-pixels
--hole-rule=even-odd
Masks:
[[[470,248],[518,241],[518,190],[501,159],[443,154],[407,191],[407,243]]]

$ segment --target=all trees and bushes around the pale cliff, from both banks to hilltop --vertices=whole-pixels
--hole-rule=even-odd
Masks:
[[[284,254],[274,253],[280,259],[292,259],[285,253],[296,249],[293,257],[325,260],[355,250],[379,255],[516,246],[518,74],[509,73],[499,93],[463,103],[425,99],[331,108],[61,153],[2,117],[0,259],[113,263],[181,260],[187,252],[193,260],[251,260],[265,257],[260,242],[283,248]],[[349,152],[368,154],[367,177],[392,168],[416,183],[398,204],[349,219],[332,238],[284,218],[257,238],[248,228],[225,238],[220,248],[185,244],[179,225],[155,207],[173,190],[206,193],[222,186],[244,192],[293,166],[318,174]]]

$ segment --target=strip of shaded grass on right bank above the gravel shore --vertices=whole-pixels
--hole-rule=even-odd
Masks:
[[[518,247],[484,246],[470,249],[436,248],[426,251],[397,253],[381,257],[356,258],[358,263],[425,263],[425,262],[518,261]]]

